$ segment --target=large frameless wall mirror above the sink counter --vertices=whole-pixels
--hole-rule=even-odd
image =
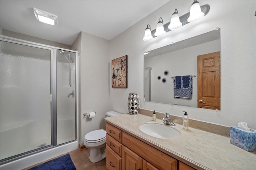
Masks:
[[[147,53],[147,102],[220,110],[220,29]]]

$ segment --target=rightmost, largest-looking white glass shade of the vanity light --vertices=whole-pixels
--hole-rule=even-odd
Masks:
[[[204,12],[201,11],[199,2],[195,0],[190,7],[190,15],[188,17],[188,22],[195,22],[204,17]]]

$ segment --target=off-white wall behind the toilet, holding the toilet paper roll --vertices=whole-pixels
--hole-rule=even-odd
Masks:
[[[81,43],[78,43],[80,41]],[[72,48],[80,50],[80,145],[86,133],[105,129],[105,115],[109,111],[109,41],[81,32]],[[83,115],[95,111],[96,117]]]

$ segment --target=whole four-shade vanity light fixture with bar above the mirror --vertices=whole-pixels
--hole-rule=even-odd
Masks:
[[[195,22],[202,19],[210,11],[210,6],[205,4],[200,6],[197,0],[191,5],[190,12],[184,14],[183,16],[178,15],[178,10],[175,9],[172,14],[171,21],[169,23],[163,24],[163,19],[160,17],[156,29],[151,31],[150,26],[148,25],[145,31],[143,40],[150,41],[154,37],[164,35],[166,32],[169,32],[174,29],[180,28],[182,25],[186,25],[190,22]],[[149,38],[150,37],[150,38]]]

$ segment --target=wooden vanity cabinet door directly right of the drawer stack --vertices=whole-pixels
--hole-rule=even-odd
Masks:
[[[124,145],[122,146],[122,170],[142,170],[143,159]]]

